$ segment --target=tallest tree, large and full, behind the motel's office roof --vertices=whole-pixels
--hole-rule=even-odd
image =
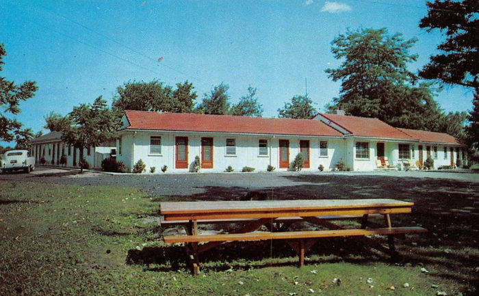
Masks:
[[[341,81],[340,96],[330,108],[394,126],[434,130],[441,109],[431,85],[415,86],[417,77],[407,69],[417,59],[409,53],[415,41],[404,40],[400,33],[389,36],[384,28],[348,31],[335,38],[331,51],[344,62],[326,70],[333,81]]]

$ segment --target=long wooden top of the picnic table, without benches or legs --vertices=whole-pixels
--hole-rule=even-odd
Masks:
[[[253,214],[265,212],[300,213],[302,211],[359,210],[375,208],[404,208],[410,211],[413,202],[392,199],[356,199],[356,200],[252,200],[252,201],[218,201],[218,202],[161,202],[160,213],[165,219],[174,216],[202,215],[221,213]],[[259,217],[259,216],[258,216]]]

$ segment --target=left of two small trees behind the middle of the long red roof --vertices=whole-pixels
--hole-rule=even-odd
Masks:
[[[229,113],[229,85],[220,83],[203,96],[203,103],[198,105],[197,111],[205,114]]]

